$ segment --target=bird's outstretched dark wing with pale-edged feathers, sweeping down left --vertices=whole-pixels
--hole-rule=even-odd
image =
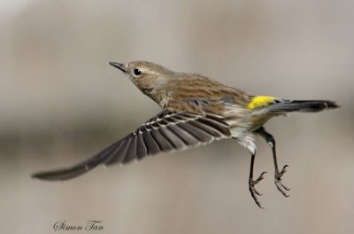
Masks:
[[[139,129],[73,168],[40,172],[32,176],[43,180],[67,180],[82,175],[101,163],[124,164],[159,152],[181,151],[229,137],[229,126],[219,116],[163,111]]]

